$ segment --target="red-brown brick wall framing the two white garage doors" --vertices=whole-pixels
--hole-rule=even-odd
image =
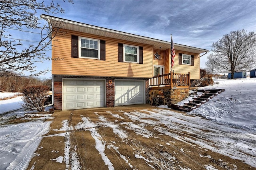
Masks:
[[[146,78],[117,78],[117,77],[94,77],[94,76],[62,76],[54,75],[54,109],[62,109],[62,78],[92,78],[106,79],[106,107],[114,107],[115,104],[115,79],[146,80],[146,103],[149,98],[149,82]],[[109,83],[109,81],[112,83]]]

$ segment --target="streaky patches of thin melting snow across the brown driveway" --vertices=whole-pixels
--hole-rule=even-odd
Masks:
[[[110,113],[108,111],[108,113]],[[129,159],[122,155],[119,152],[119,148],[115,145],[115,141],[111,141],[109,145],[106,146],[107,141],[98,133],[96,130],[97,125],[104,125],[105,127],[110,127],[113,130],[113,133],[118,135],[122,141],[129,144],[130,147],[134,150],[134,157],[138,159],[144,159],[148,166],[152,167],[152,163],[158,167],[162,167],[163,169],[174,169],[175,166],[172,164],[166,164],[164,160],[159,160],[154,155],[142,156],[144,153],[143,146],[138,146],[138,143],[134,142],[134,139],[128,138],[128,132],[126,130],[133,130],[136,134],[145,137],[157,137],[158,135],[168,135],[178,141],[182,141],[192,146],[198,146],[204,150],[212,150],[213,152],[217,152],[228,156],[233,159],[242,160],[246,164],[256,167],[256,131],[253,129],[236,127],[233,125],[228,125],[225,122],[221,121],[209,121],[207,119],[202,119],[202,117],[191,117],[181,113],[177,113],[171,110],[166,109],[144,109],[140,111],[115,111],[115,114],[110,114],[113,117],[118,115],[123,115],[122,117],[125,119],[129,119],[128,122],[119,122],[114,123],[106,119],[103,115],[99,115],[98,113],[94,113],[98,115],[98,122],[92,122],[89,117],[86,115],[81,115],[82,121],[74,126],[76,130],[90,131],[92,137],[95,140],[95,148],[98,150],[99,154],[102,156],[102,160],[104,160],[105,164],[108,165],[109,169],[113,169],[112,162],[108,159],[104,150],[114,149],[116,154],[120,155],[120,158],[124,159],[126,163],[132,168],[133,165],[130,164]],[[92,113],[93,114],[93,113]],[[86,117],[85,117],[86,116]],[[67,127],[66,121],[63,121],[63,127],[60,129],[72,129],[72,127]],[[137,124],[135,124],[135,122]],[[124,125],[124,129],[121,129],[121,125]],[[166,127],[162,127],[161,125],[165,125]],[[149,131],[147,129],[148,126],[153,127],[153,131]],[[196,137],[184,136],[182,134],[194,134]],[[69,138],[66,138],[66,142],[69,143],[65,146],[65,149],[70,148]],[[150,139],[149,139],[150,140]],[[172,141],[169,141],[170,143]],[[168,143],[169,145],[171,145]],[[167,144],[167,145],[168,145]],[[191,152],[190,150],[184,150],[184,148],[180,149],[182,152]],[[164,155],[164,158],[169,159],[169,161],[173,163],[178,163],[175,155],[170,157],[170,155]],[[175,154],[175,153],[174,153]],[[65,157],[70,154],[65,153]],[[72,153],[71,153],[72,155]],[[211,158],[211,155],[202,155],[201,157]],[[78,165],[79,164],[79,160]],[[67,164],[68,161],[66,162]],[[168,168],[167,168],[168,166]],[[67,166],[68,168],[69,166]],[[211,165],[205,165],[206,169],[212,169]],[[186,169],[181,167],[181,169]],[[160,168],[161,169],[161,168]]]

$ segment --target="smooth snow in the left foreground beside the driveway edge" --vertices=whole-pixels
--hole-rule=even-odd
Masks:
[[[27,122],[0,127],[0,169],[24,170],[28,167],[42,135],[48,133],[48,122]]]

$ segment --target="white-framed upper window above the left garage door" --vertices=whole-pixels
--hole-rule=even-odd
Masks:
[[[79,37],[79,57],[100,59],[100,40]]]

